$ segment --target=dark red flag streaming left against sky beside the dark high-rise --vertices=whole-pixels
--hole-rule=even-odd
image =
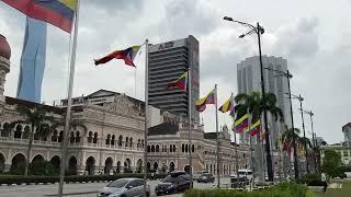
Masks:
[[[100,59],[94,59],[95,66],[105,63],[111,61],[112,59],[123,59],[125,65],[135,67],[134,65],[134,58],[139,51],[140,46],[132,46],[129,48],[126,48],[124,50],[114,50],[111,54],[106,55],[105,57],[102,57]]]

